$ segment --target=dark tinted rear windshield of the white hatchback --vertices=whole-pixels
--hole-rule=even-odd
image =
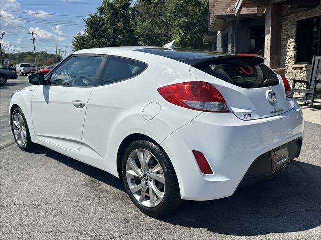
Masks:
[[[260,88],[279,84],[276,74],[264,65],[259,57],[218,57],[194,67],[242,88]]]

